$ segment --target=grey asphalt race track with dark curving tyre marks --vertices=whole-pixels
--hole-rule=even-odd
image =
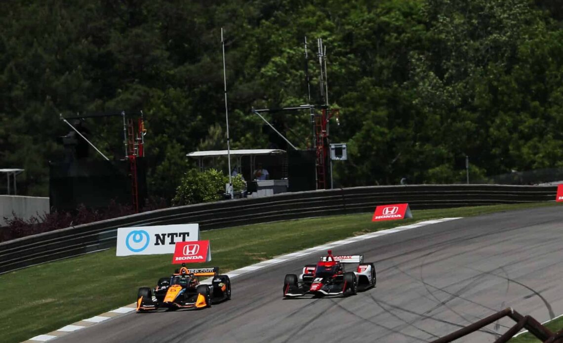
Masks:
[[[132,313],[54,341],[427,342],[508,306],[544,322],[563,314],[562,247],[561,206],[470,217],[335,248],[376,263],[378,286],[357,296],[282,299],[284,275],[315,253],[233,279],[233,299],[211,309]]]

